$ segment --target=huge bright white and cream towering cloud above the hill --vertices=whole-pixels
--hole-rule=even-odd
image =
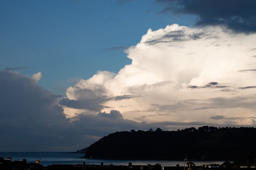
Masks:
[[[125,51],[131,64],[80,80],[61,104],[80,112],[115,109],[140,122],[207,124],[218,117],[216,124],[252,124],[256,94],[248,87],[256,85],[256,74],[241,70],[256,67],[255,39],[219,26],[149,29]]]

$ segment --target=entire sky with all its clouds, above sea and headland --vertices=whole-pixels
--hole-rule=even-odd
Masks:
[[[0,0],[1,151],[256,127],[254,0]]]

